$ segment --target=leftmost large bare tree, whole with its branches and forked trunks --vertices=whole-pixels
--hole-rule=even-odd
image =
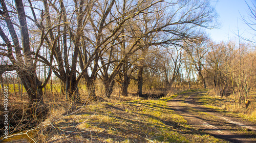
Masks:
[[[36,107],[44,103],[42,89],[48,80],[42,84],[36,75],[37,60],[34,60],[35,58],[32,56],[35,53],[31,51],[30,47],[28,22],[23,1],[15,1],[15,9],[10,7],[14,6],[10,2],[1,1],[1,6],[0,14],[3,20],[0,27],[0,35],[5,43],[4,46],[7,47],[7,50],[2,49],[3,52],[1,54],[8,57],[12,63],[8,67],[16,70],[29,95],[31,106]],[[8,8],[12,10],[8,10]],[[12,14],[10,15],[10,13]],[[12,19],[18,19],[18,23]],[[9,34],[12,40],[10,40]],[[21,38],[18,38],[18,35]]]

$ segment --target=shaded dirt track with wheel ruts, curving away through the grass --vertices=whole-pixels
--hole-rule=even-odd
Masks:
[[[167,105],[198,130],[230,142],[256,142],[256,125],[202,106],[198,98],[204,93],[201,91],[181,94]]]

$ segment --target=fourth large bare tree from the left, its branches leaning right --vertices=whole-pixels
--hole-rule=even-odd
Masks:
[[[113,84],[114,84],[114,78],[116,77],[116,75],[120,72],[120,68],[122,66],[124,66],[123,64],[127,63],[127,59],[129,59],[129,57],[131,55],[133,55],[136,51],[138,51],[139,49],[142,48],[142,46],[139,46],[139,42],[140,40],[143,39],[143,37],[145,37],[145,34],[140,34],[140,35],[136,35],[134,36],[134,34],[131,34],[134,32],[134,28],[137,28],[134,26],[134,22],[140,22],[140,16],[145,15],[147,13],[155,13],[155,11],[153,11],[152,7],[157,5],[158,3],[160,3],[162,1],[138,1],[136,3],[132,3],[130,1],[123,1],[123,6],[122,8],[119,7],[115,7],[115,10],[118,11],[117,15],[114,15],[115,12],[112,13],[112,16],[110,16],[112,19],[108,19],[110,20],[112,23],[112,25],[104,25],[109,26],[109,32],[113,33],[112,35],[106,35],[106,38],[102,36],[102,42],[100,45],[102,45],[103,47],[107,47],[109,46],[110,49],[110,55],[108,57],[109,60],[105,61],[103,60],[103,58],[100,58],[101,61],[101,65],[103,68],[103,71],[101,69],[99,69],[101,71],[101,75],[102,75],[102,80],[104,82],[105,85],[105,92],[106,96],[110,96],[110,94],[112,93],[112,88],[113,88]],[[124,16],[122,16],[124,15]],[[117,18],[116,18],[117,17]],[[118,20],[120,20],[121,22],[118,22]],[[134,20],[134,21],[132,21]],[[92,21],[92,20],[91,20]],[[93,22],[91,22],[93,23]],[[113,26],[113,24],[115,26]],[[95,30],[96,28],[94,28]],[[118,31],[117,31],[118,30]],[[129,34],[130,32],[130,34]],[[125,35],[121,35],[121,34],[126,34]],[[119,37],[120,36],[120,37]],[[126,38],[125,38],[126,37]],[[104,40],[105,38],[105,40]],[[126,44],[125,40],[129,39],[129,41],[132,41],[131,44]],[[106,40],[111,40],[111,42],[108,42]],[[125,45],[126,44],[126,45]],[[119,49],[121,49],[121,53],[122,56],[120,56],[118,58],[118,60],[116,61],[117,63],[115,64],[115,67],[113,68],[113,71],[111,72],[111,74],[109,75],[108,70],[109,70],[109,65],[107,65],[108,63],[112,63],[113,61],[110,61],[112,58],[112,50],[113,50],[113,46],[115,45],[121,45],[119,46]],[[129,45],[129,46],[127,46]],[[117,48],[118,49],[118,48]],[[102,51],[104,51],[104,48],[101,47],[99,53],[102,54]]]

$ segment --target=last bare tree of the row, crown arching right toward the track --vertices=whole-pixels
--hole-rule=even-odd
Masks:
[[[139,43],[143,45],[142,49],[144,51],[142,51],[142,53],[145,52],[149,46],[181,46],[180,42],[182,41],[184,42],[201,39],[199,34],[195,34],[195,27],[208,27],[205,24],[212,22],[212,19],[214,19],[216,16],[214,10],[210,8],[208,1],[187,1],[184,3],[177,1],[177,3],[172,3],[168,6],[168,8],[173,8],[173,10],[169,13],[166,11],[166,15],[163,13],[158,13],[158,20],[161,18],[165,19],[159,20],[164,21],[163,23],[154,25],[158,22],[151,22],[150,20],[147,20],[148,18],[144,18],[145,20],[142,20],[143,24],[141,24],[143,26],[138,26],[140,27],[138,28],[139,32],[145,33],[143,42]],[[178,8],[175,9],[175,7]],[[179,14],[179,12],[181,12],[181,14]],[[154,30],[149,30],[151,28],[154,28]],[[158,31],[157,35],[155,35],[155,31]],[[141,95],[143,84],[143,66],[139,67],[137,75],[138,93]]]

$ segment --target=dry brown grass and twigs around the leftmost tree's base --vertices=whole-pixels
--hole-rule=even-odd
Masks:
[[[44,111],[50,110],[49,113],[47,113],[47,116],[39,117],[35,116],[34,113],[31,113],[31,109],[29,106],[29,98],[26,94],[23,94],[23,100],[20,100],[20,97],[15,95],[13,92],[8,93],[8,121],[9,121],[9,136],[15,136],[11,137],[14,140],[18,140],[22,142],[23,140],[27,142],[28,140],[34,142],[31,140],[30,137],[33,137],[37,134],[37,129],[41,126],[41,122],[46,119],[52,120],[56,118],[62,117],[63,111],[70,110],[69,109],[69,103],[65,100],[65,98],[61,98],[57,96],[57,94],[54,93],[47,93],[47,96],[44,97],[46,107]],[[1,96],[1,98],[3,98]],[[1,99],[3,100],[3,99]],[[3,117],[4,115],[4,103],[2,102],[0,104],[0,114]],[[43,118],[43,119],[42,119]],[[0,118],[1,123],[1,131],[3,131],[4,128],[4,119]],[[32,129],[32,130],[31,130]],[[1,132],[3,135],[3,132]],[[0,138],[0,141],[3,138]],[[10,140],[10,139],[9,139]],[[8,139],[3,140],[8,141]],[[13,141],[13,140],[12,140]]]

